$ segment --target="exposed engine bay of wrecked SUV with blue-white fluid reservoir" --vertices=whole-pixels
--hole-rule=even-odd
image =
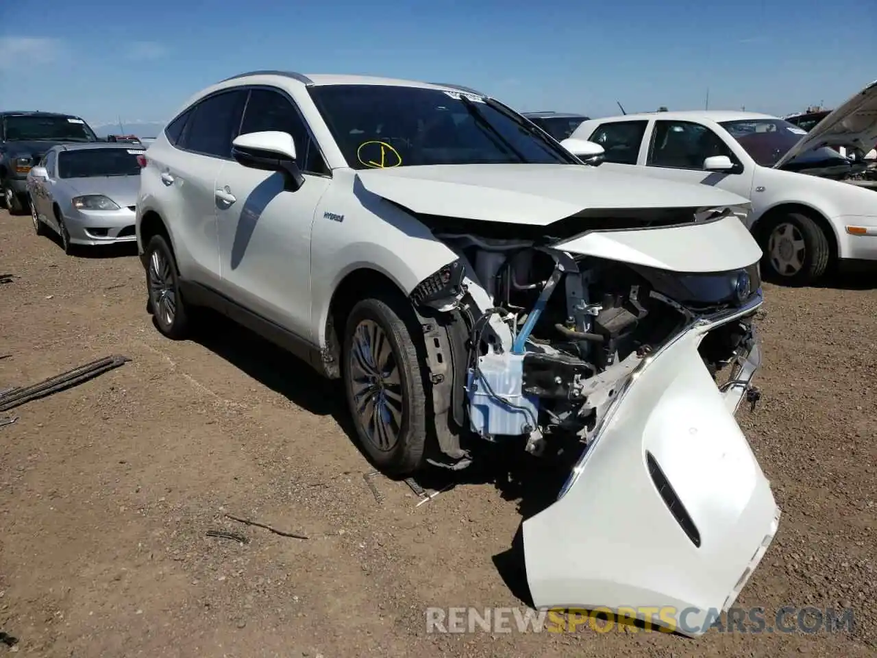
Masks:
[[[416,305],[466,326],[464,429],[481,439],[527,437],[543,454],[587,443],[624,380],[696,318],[743,304],[758,265],[680,274],[569,254],[533,240],[436,232],[460,258],[418,286]],[[474,291],[481,297],[477,299]],[[717,327],[700,353],[714,378],[734,361],[752,318]],[[465,372],[465,375],[464,375]],[[463,375],[463,377],[460,377]]]

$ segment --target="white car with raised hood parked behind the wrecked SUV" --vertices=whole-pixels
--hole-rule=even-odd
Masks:
[[[866,165],[835,150],[867,153],[875,141],[877,82],[810,132],[754,112],[662,111],[591,119],[562,143],[588,158],[602,147],[607,168],[751,199],[746,223],[764,252],[762,270],[807,285],[833,259],[877,260],[877,194],[847,180]]]

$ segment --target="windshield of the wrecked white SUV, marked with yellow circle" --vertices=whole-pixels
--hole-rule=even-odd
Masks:
[[[495,101],[440,89],[311,87],[354,169],[440,164],[581,164]]]

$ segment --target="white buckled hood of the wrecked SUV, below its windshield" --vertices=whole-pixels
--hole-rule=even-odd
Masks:
[[[549,225],[588,209],[749,204],[708,185],[562,164],[424,165],[356,172],[373,194],[427,215]]]

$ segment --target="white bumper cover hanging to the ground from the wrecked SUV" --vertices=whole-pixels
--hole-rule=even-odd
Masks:
[[[700,635],[757,566],[780,511],[733,410],[758,344],[723,393],[697,351],[715,326],[692,325],[631,375],[558,501],[524,522],[538,607],[633,610]]]

